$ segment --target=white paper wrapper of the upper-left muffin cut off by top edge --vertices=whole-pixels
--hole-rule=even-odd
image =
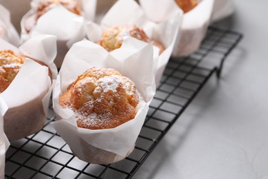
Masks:
[[[65,54],[77,41],[81,41],[86,36],[85,22],[93,21],[96,13],[96,0],[77,0],[82,15],[70,12],[60,4],[52,10],[43,14],[34,25],[34,28],[27,33],[25,21],[35,15],[35,10],[39,0],[33,0],[31,10],[21,19],[21,41],[24,42],[32,36],[38,34],[52,34],[57,37],[58,55],[55,63],[60,67]]]

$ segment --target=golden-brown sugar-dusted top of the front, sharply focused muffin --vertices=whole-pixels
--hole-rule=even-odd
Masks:
[[[78,127],[110,129],[135,118],[140,98],[129,78],[111,68],[93,67],[78,76],[59,101],[74,111]]]

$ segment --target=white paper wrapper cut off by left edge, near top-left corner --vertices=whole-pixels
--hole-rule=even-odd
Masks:
[[[19,34],[10,21],[10,12],[0,4],[0,38],[19,45]]]

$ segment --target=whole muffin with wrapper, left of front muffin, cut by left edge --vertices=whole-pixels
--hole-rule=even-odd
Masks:
[[[36,60],[34,61],[27,59],[26,56],[14,54],[12,50],[0,51],[0,94],[3,95],[4,101],[8,101],[7,104],[9,108],[3,118],[5,120],[4,131],[9,140],[17,140],[29,136],[30,134],[34,134],[36,131],[39,131],[45,123],[46,117],[43,99],[47,94],[50,94],[49,86],[47,85],[51,85],[52,83],[51,72],[47,72],[49,70],[45,70],[45,68],[42,67],[45,63]],[[38,85],[38,87],[41,88],[41,92],[34,92],[32,98],[24,98],[25,96],[19,95],[25,94],[24,91],[29,90],[28,88],[30,85],[32,89],[38,89],[38,87],[35,86],[36,83],[29,84],[27,79],[25,79],[25,82],[27,83],[23,83],[27,87],[19,86],[20,83],[17,82],[22,82],[22,78],[25,78],[26,76],[23,77],[20,75],[19,79],[15,82],[18,86],[13,84],[12,89],[8,88],[12,85],[12,82],[15,81],[15,77],[18,76],[17,74],[19,74],[22,68],[23,76],[31,71],[30,74],[27,74],[27,78],[30,79],[32,79],[33,75],[38,76],[38,74],[43,74],[43,77],[39,79],[43,79],[44,81],[41,80],[41,85]],[[47,72],[46,75],[44,74],[45,72]],[[45,87],[47,87],[47,89]],[[16,90],[19,90],[19,92],[16,92]],[[19,97],[16,98],[16,102],[13,98],[14,92],[17,97]]]

